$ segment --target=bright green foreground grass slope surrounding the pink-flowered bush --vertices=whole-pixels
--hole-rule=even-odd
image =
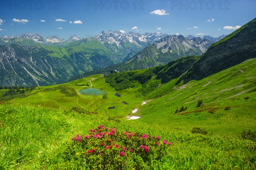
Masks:
[[[256,168],[255,142],[236,135],[193,134],[165,125],[152,126],[145,122],[111,119],[101,113],[83,115],[70,110],[11,103],[2,103],[0,113],[0,169],[102,169],[101,164],[136,170]],[[98,125],[115,127],[120,132],[160,136],[160,144],[163,145],[162,140],[166,139],[172,142],[172,146],[163,151],[161,159],[149,157],[148,161],[143,161],[139,159],[142,156],[129,154],[128,150],[121,157],[121,148],[127,146],[122,144],[119,150],[110,149],[113,155],[109,157],[122,164],[104,163],[101,160],[107,158],[102,157],[98,150],[88,159],[90,154],[74,145],[71,138],[77,134],[90,134],[89,129],[95,129]],[[105,139],[108,137],[97,139],[98,149],[100,141]],[[75,150],[70,152],[70,148]],[[105,150],[105,146],[103,148],[104,155],[108,155],[108,150]],[[151,153],[154,150],[150,147],[145,156]]]

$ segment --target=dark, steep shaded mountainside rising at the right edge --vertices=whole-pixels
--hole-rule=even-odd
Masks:
[[[216,42],[179,80],[202,79],[256,57],[256,19]]]

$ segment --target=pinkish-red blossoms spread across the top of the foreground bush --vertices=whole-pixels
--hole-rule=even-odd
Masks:
[[[99,154],[101,155],[112,153],[112,152],[116,152],[120,156],[125,156],[125,152],[126,154],[131,154],[131,153],[138,154],[143,152],[149,153],[149,151],[150,152],[156,151],[154,150],[154,148],[157,148],[160,145],[160,136],[154,137],[151,135],[148,136],[147,134],[138,136],[137,133],[132,133],[131,131],[119,133],[119,132],[116,132],[115,128],[110,129],[108,127],[104,127],[104,125],[98,126],[95,130],[90,129],[90,132],[91,133],[89,135],[84,137],[78,134],[75,137],[73,137],[72,140],[75,141],[75,143],[83,142],[82,140],[84,140],[84,144],[82,145],[84,147],[90,146],[89,145],[90,143],[92,143],[93,147],[96,147],[98,144],[99,148],[96,147],[96,150],[99,150]],[[127,141],[127,138],[125,138],[125,136],[127,136],[130,139]],[[123,140],[126,140],[126,141],[123,141]],[[121,142],[121,143],[119,145],[113,142]],[[130,144],[126,145],[125,147],[121,145],[123,143],[126,143],[126,144],[130,143]],[[140,147],[136,147],[137,143],[141,144]],[[163,145],[166,145],[166,144],[167,144],[167,141],[164,139]],[[169,142],[168,144],[172,145],[172,142]],[[149,150],[149,147],[151,148],[150,150]],[[163,149],[162,147],[159,147],[159,148]],[[110,152],[108,151],[107,153],[104,153],[104,152],[102,153],[102,149],[103,150],[111,149],[111,151],[109,150]],[[95,149],[88,150],[86,153],[93,153],[96,150]]]

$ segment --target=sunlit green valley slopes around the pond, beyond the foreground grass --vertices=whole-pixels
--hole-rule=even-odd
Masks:
[[[254,112],[256,59],[249,59],[205,79],[193,80],[184,85],[182,83],[175,85],[178,78],[162,83],[161,79],[157,78],[157,73],[162,73],[166,68],[173,69],[174,65],[178,67],[177,63],[183,63],[178,62],[180,60],[174,62],[176,64],[169,65],[170,67],[164,65],[111,74],[108,77],[94,75],[62,85],[38,87],[24,95],[0,97],[0,100],[51,105],[55,108],[77,106],[109,116],[139,115],[142,116],[137,120],[139,122],[185,130],[190,130],[198,124],[209,132],[218,133],[239,134],[244,129],[256,130]],[[130,83],[130,87],[127,86],[127,82]],[[81,86],[86,84],[89,86]],[[91,87],[106,91],[107,94],[104,96],[79,94],[79,90]],[[4,90],[1,91],[4,93]],[[200,99],[203,100],[204,105],[197,108]],[[145,101],[147,103],[141,105]],[[180,110],[182,106],[187,107],[187,110],[175,113],[177,108]],[[225,111],[226,106],[230,106],[231,109]],[[138,109],[138,112],[133,114],[131,111],[134,109]]]

